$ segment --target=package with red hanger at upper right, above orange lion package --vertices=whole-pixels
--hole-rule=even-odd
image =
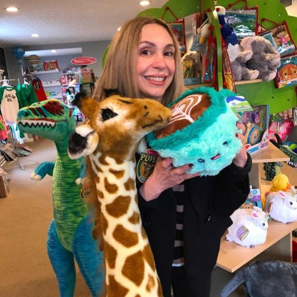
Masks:
[[[273,47],[280,53],[281,57],[295,54],[296,45],[291,37],[286,21],[284,21],[282,24],[278,24],[274,21],[262,18],[261,25],[264,21],[274,23],[276,27],[261,32],[260,36],[270,41]]]

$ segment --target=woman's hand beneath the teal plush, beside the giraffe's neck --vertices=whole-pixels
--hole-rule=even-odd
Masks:
[[[187,174],[192,164],[172,167],[172,159],[158,157],[153,172],[140,187],[140,194],[147,201],[157,198],[164,190],[181,184],[184,180],[198,176],[200,172]]]

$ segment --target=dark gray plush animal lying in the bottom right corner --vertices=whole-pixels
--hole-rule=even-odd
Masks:
[[[297,263],[255,261],[229,281],[221,297],[229,296],[241,284],[247,297],[297,297]]]

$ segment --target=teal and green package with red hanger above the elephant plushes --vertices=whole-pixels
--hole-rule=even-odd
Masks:
[[[248,7],[246,0],[245,2],[245,9],[229,9],[235,4],[233,3],[227,7],[225,14],[227,23],[234,29],[238,39],[255,36],[257,32],[258,8]]]

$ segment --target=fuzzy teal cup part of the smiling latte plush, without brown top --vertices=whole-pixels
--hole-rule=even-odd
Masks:
[[[177,106],[176,103],[186,97],[191,100],[191,96],[203,94],[209,96],[210,105],[196,120],[192,119],[192,123],[189,122],[188,125],[164,138],[157,139],[154,132],[147,136],[148,145],[160,156],[171,157],[173,166],[179,167],[192,163],[194,166],[187,173],[201,172],[200,176],[218,174],[231,164],[242,148],[241,141],[236,137],[236,133],[239,132],[236,127],[238,117],[225,100],[226,97],[235,95],[229,90],[217,92],[213,88],[195,88],[184,92],[168,107],[174,104]],[[181,109],[181,106],[175,107],[173,119],[174,112],[183,113],[180,112]],[[169,125],[170,123],[167,127]]]

